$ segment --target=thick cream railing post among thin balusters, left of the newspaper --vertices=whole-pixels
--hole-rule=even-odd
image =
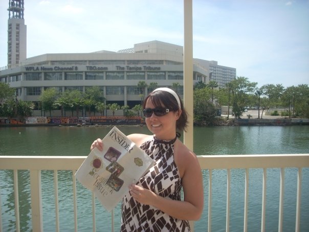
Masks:
[[[41,199],[41,171],[30,170],[32,231],[43,231],[42,199]]]

